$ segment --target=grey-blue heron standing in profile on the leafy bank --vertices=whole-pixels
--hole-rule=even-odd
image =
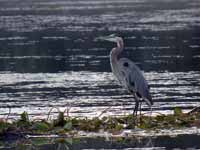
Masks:
[[[149,92],[150,88],[142,72],[131,60],[120,57],[124,49],[123,39],[113,35],[101,39],[117,43],[117,47],[110,52],[110,64],[112,72],[120,84],[135,97],[133,115],[137,116],[138,106],[139,104],[141,106],[142,100],[151,108],[153,101]]]

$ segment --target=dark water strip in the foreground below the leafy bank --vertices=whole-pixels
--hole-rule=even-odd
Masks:
[[[14,136],[13,136],[14,138]],[[8,143],[9,141],[9,143]],[[4,149],[57,149],[57,150],[165,150],[198,149],[199,135],[113,137],[113,138],[73,138],[73,137],[30,137],[26,139],[7,139],[1,143]]]

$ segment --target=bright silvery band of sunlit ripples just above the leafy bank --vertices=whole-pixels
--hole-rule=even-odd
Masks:
[[[145,76],[155,111],[198,105],[200,72],[148,72]],[[26,110],[36,116],[47,115],[52,107],[72,107],[72,116],[98,116],[112,106],[106,114],[123,115],[134,107],[133,97],[108,72],[2,73],[0,78],[1,114],[7,114],[9,107],[14,114]]]

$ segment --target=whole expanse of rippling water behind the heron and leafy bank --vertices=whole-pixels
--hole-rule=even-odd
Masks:
[[[95,38],[116,33],[124,56],[150,83],[154,110],[200,103],[198,0],[0,0],[0,111],[12,116],[50,108],[70,115],[130,113],[134,99],[118,86],[109,52]],[[147,106],[143,106],[147,110]]]

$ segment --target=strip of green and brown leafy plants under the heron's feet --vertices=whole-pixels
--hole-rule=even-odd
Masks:
[[[48,121],[29,119],[27,112],[23,112],[20,118],[15,121],[0,119],[0,136],[7,134],[76,134],[76,131],[98,132],[108,131],[119,133],[123,129],[134,129],[136,126],[141,129],[176,129],[184,127],[200,128],[200,112],[191,111],[183,113],[180,108],[175,108],[170,115],[159,114],[157,116],[140,115],[134,118],[132,115],[122,117],[102,118],[75,118],[65,117],[65,112],[59,112],[56,119]],[[136,124],[135,124],[136,122]]]

